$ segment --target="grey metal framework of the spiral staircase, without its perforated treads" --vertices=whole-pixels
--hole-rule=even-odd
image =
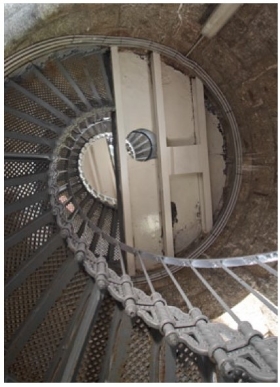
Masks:
[[[48,54],[53,56],[53,52],[60,49],[64,50],[65,47],[69,47],[69,52],[65,54],[69,57],[75,55],[75,53],[71,52],[71,47],[79,47],[81,52],[83,52],[84,48],[85,52],[87,52],[89,45],[91,45],[91,47],[110,47],[112,45],[129,48],[141,47],[148,49],[149,51],[157,51],[161,55],[166,55],[183,64],[186,68],[192,70],[199,76],[223,107],[231,126],[233,145],[235,148],[235,177],[232,193],[224,212],[221,214],[220,219],[217,221],[209,236],[187,258],[162,257],[145,251],[139,251],[138,249],[120,242],[116,237],[116,214],[114,217],[110,212],[113,210],[105,207],[104,203],[98,202],[96,198],[93,199],[93,203],[90,203],[87,210],[84,210],[87,205],[88,193],[84,190],[83,182],[79,180],[78,176],[77,161],[80,151],[91,137],[108,131],[108,122],[110,123],[111,120],[114,121],[112,93],[104,57],[101,57],[100,53],[97,54],[99,55],[101,72],[105,82],[106,98],[102,96],[101,99],[101,96],[96,90],[94,80],[91,79],[89,69],[84,70],[86,77],[91,79],[90,88],[94,97],[97,99],[97,102],[100,104],[103,100],[107,101],[106,106],[94,107],[71,74],[63,66],[63,55],[61,58],[59,57],[59,54],[55,56],[57,67],[68,81],[69,85],[75,90],[81,102],[88,109],[85,113],[81,112],[68,97],[60,92],[58,88],[42,74],[40,71],[40,56]],[[32,61],[36,62],[36,67],[34,64],[30,64]],[[32,48],[23,50],[17,55],[8,58],[6,65],[6,75],[8,76],[14,75],[13,72],[19,67],[21,67],[19,70],[21,74],[24,74],[27,68],[33,71],[35,69],[36,76],[78,116],[78,118],[69,121],[65,116],[64,121],[67,118],[69,125],[64,128],[57,127],[56,125],[33,117],[25,112],[18,111],[12,107],[6,108],[8,113],[13,114],[22,120],[31,122],[41,128],[51,130],[57,138],[54,147],[51,142],[48,142],[53,147],[52,155],[21,153],[6,154],[8,160],[51,160],[49,167],[48,192],[43,191],[42,193],[35,194],[34,197],[31,196],[15,201],[7,207],[7,213],[12,213],[33,202],[38,202],[38,200],[45,198],[46,194],[50,195],[49,199],[52,212],[46,212],[39,215],[37,219],[22,227],[18,232],[8,236],[5,240],[5,247],[10,248],[21,242],[42,225],[53,221],[53,216],[60,229],[60,234],[57,234],[53,239],[50,239],[50,241],[38,250],[26,264],[20,266],[19,269],[22,270],[22,273],[17,273],[12,277],[10,282],[8,282],[6,288],[7,294],[10,294],[13,289],[19,286],[24,278],[29,273],[34,272],[37,265],[44,261],[50,243],[55,241],[55,244],[51,247],[51,249],[54,249],[55,246],[58,246],[61,243],[61,238],[65,238],[69,250],[73,253],[73,257],[69,257],[66,263],[61,267],[52,281],[51,286],[44,292],[35,308],[30,312],[25,322],[18,328],[12,337],[7,346],[6,368],[12,364],[30,336],[43,321],[48,310],[52,307],[64,286],[78,271],[79,265],[83,265],[86,272],[95,280],[95,289],[98,287],[99,290],[88,292],[87,289],[84,293],[84,296],[86,298],[88,297],[86,303],[87,307],[80,307],[77,310],[77,313],[74,315],[72,322],[69,325],[67,337],[65,338],[65,340],[68,340],[72,333],[74,333],[75,339],[71,342],[67,352],[64,354],[62,354],[63,347],[60,346],[58,353],[63,356],[63,364],[61,363],[61,366],[59,366],[60,355],[58,354],[49,370],[50,374],[48,374],[48,378],[53,378],[53,373],[55,373],[56,367],[58,366],[60,367],[60,376],[58,377],[60,381],[71,381],[73,379],[73,372],[78,364],[78,358],[82,353],[92,321],[94,321],[97,314],[100,300],[99,297],[101,294],[100,291],[103,292],[107,289],[113,298],[122,304],[126,314],[120,310],[116,311],[112,325],[112,336],[108,342],[107,356],[101,373],[102,381],[120,380],[119,373],[125,361],[125,348],[127,348],[129,344],[130,333],[132,331],[131,319],[141,317],[148,327],[160,332],[166,343],[168,343],[166,347],[167,364],[165,381],[175,380],[175,348],[178,343],[183,343],[201,358],[209,358],[217,365],[218,370],[225,378],[228,378],[228,380],[232,380],[235,373],[241,370],[242,372],[245,371],[255,381],[275,382],[277,380],[277,339],[274,337],[265,339],[263,335],[260,332],[255,331],[248,322],[241,321],[241,319],[231,311],[229,306],[210,283],[202,276],[198,269],[205,268],[212,270],[222,268],[225,273],[230,277],[233,277],[254,294],[254,289],[247,283],[244,283],[244,281],[229,268],[244,265],[259,265],[269,271],[269,273],[276,275],[277,272],[267,264],[277,261],[278,253],[272,252],[249,257],[195,259],[210,246],[222,231],[237,200],[241,183],[240,172],[242,149],[236,121],[223,94],[209,76],[197,64],[167,47],[144,40],[117,37],[72,36],[61,39],[51,39],[44,44],[36,44]],[[7,79],[7,83],[8,82],[9,80]],[[24,92],[26,96],[34,100],[34,96],[30,95],[29,92],[23,91],[17,86],[16,89],[20,92]],[[42,105],[39,100],[37,102]],[[47,110],[50,110],[51,108],[44,103],[43,106]],[[114,125],[114,122],[112,122],[112,124]],[[9,135],[10,134],[8,133],[8,136]],[[24,136],[19,135],[18,139],[20,141],[28,141],[31,143],[34,141],[34,138],[30,138],[29,135]],[[139,149],[141,149],[141,147]],[[28,179],[33,181],[33,178],[31,177]],[[23,180],[21,178],[15,178],[12,181],[21,184]],[[83,196],[84,193],[86,196]],[[42,195],[42,197],[40,195]],[[63,195],[65,196],[65,201],[62,202],[61,198]],[[70,205],[72,206],[71,210],[69,209]],[[100,213],[96,215],[100,206]],[[110,216],[112,216],[115,223],[114,226],[110,224],[109,227],[107,227],[107,231],[105,231],[105,221],[108,214],[111,214]],[[94,215],[96,215],[97,219],[93,219]],[[97,249],[98,244],[99,247]],[[107,250],[110,252],[110,255],[113,254],[113,251],[119,253],[118,274],[109,267]],[[137,288],[137,280],[133,280],[126,273],[125,259],[123,258],[123,254],[125,255],[125,253],[133,254],[135,259],[138,260],[137,262],[142,267],[144,273],[143,277],[145,283],[148,284],[150,289],[149,295]],[[157,275],[148,273],[148,270],[145,267],[145,259],[162,264],[163,270]],[[171,266],[169,267],[168,265]],[[197,281],[206,286],[210,294],[221,304],[222,308],[237,322],[238,329],[234,330],[224,324],[212,323],[202,314],[200,309],[193,307],[187,294],[184,293],[180,283],[173,275],[174,271],[178,270],[180,267],[191,268],[197,276]],[[188,313],[184,313],[179,308],[168,305],[162,295],[155,291],[153,281],[163,274],[170,277],[173,281],[183,301],[188,306]],[[82,297],[83,300],[84,296]],[[270,305],[274,311],[277,311],[274,305],[270,302],[268,304],[263,297],[259,297],[259,299],[262,302],[265,301],[265,304]],[[83,318],[81,320],[79,320],[78,311],[83,313]],[[78,320],[80,330],[77,330],[75,325]],[[153,353],[155,353],[156,356],[158,355],[158,343],[155,343]],[[110,366],[111,362],[113,362],[112,366]],[[168,367],[170,367],[170,370]],[[156,374],[157,370],[155,363],[150,370],[151,380],[156,379]]]

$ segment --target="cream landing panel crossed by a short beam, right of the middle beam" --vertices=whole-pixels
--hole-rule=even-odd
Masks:
[[[198,103],[196,100],[194,106],[192,89],[196,84],[191,84],[189,77],[164,63],[162,74],[167,145],[170,147],[171,201],[176,205],[178,218],[178,222],[173,226],[173,239],[175,253],[179,253],[196,239],[202,230],[201,214],[205,206],[201,172],[204,172],[203,158],[205,160],[207,157],[207,150],[205,151],[205,141],[201,144],[200,140],[206,138],[206,128],[201,128],[199,119],[195,117],[194,109],[198,109]],[[201,99],[198,93],[196,96]],[[196,113],[203,113],[203,108],[204,104],[202,109],[199,106],[199,112]],[[202,146],[204,148],[200,149]]]

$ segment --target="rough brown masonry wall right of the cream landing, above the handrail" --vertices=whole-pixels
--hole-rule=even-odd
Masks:
[[[246,4],[192,56],[226,95],[243,146],[239,200],[210,255],[277,249],[276,31],[276,4]]]

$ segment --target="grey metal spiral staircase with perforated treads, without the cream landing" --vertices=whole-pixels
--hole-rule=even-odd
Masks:
[[[112,205],[92,195],[81,177],[84,145],[118,130],[113,45],[170,54],[144,41],[69,37],[6,61],[5,381],[276,382],[277,338],[264,338],[232,312],[205,271],[222,270],[225,286],[233,279],[277,314],[238,272],[255,265],[276,284],[277,253],[205,259],[199,249],[188,258],[135,249],[124,243],[120,190]],[[129,256],[141,268],[138,276],[128,274]],[[168,305],[157,292],[149,261],[161,266],[158,276],[173,283],[184,307]],[[182,266],[236,330],[192,304],[175,275]]]

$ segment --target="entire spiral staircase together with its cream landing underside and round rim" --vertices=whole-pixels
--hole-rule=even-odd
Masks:
[[[5,380],[275,382],[277,338],[221,289],[232,281],[277,314],[239,269],[277,286],[278,254],[203,256],[234,209],[241,160],[228,102],[174,50],[72,36],[8,58]],[[236,329],[203,314],[182,267]]]

